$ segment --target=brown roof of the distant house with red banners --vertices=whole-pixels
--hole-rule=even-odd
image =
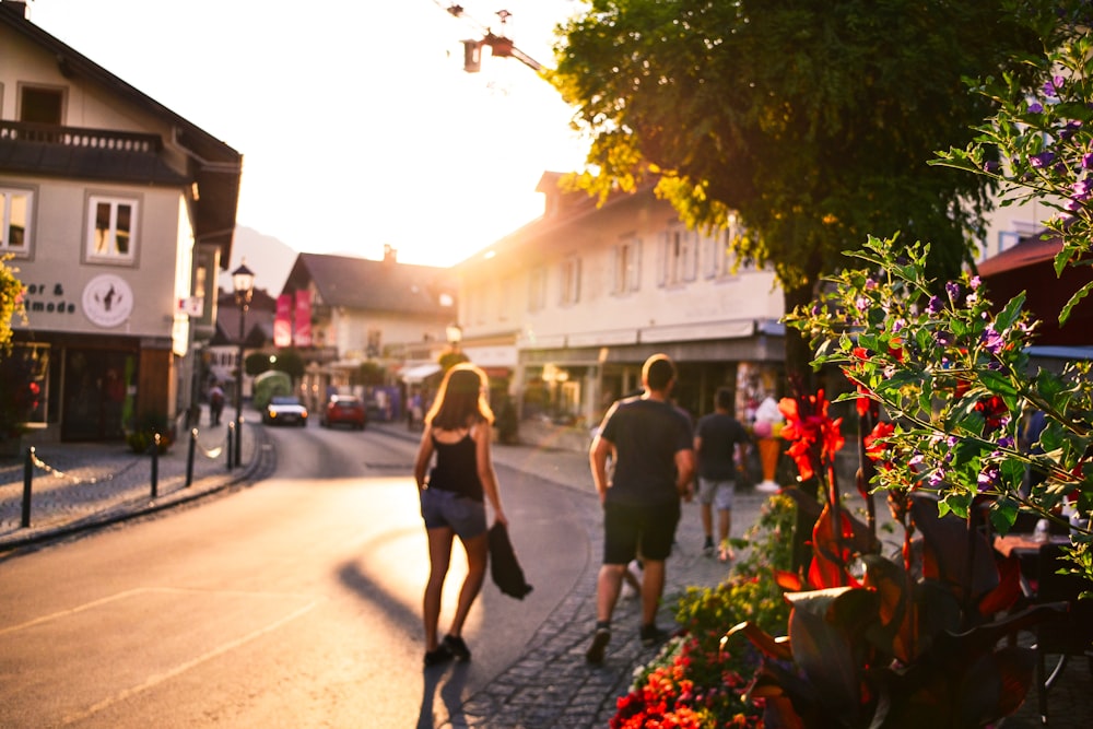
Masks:
[[[301,254],[284,292],[314,283],[327,306],[367,311],[438,315],[455,310],[456,283],[448,269],[352,256]],[[442,296],[453,304],[444,306]]]

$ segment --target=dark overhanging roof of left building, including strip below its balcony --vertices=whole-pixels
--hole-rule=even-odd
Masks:
[[[177,171],[172,175],[162,161],[149,163],[143,158],[128,158],[118,153],[107,153],[105,156],[109,157],[110,165],[118,167],[115,171],[118,173],[116,179],[131,180],[136,175],[158,184],[185,185],[197,181],[201,197],[193,204],[193,235],[202,244],[219,245],[223,249],[222,260],[226,267],[239,202],[243,155],[39,28],[25,17],[25,3],[0,1],[0,27],[10,28],[45,49],[66,78],[105,87],[115,96],[145,109],[176,130],[174,141],[187,152],[189,158],[187,175],[179,175]],[[195,52],[200,52],[200,49]],[[97,174],[98,178],[104,175],[104,168],[95,166],[96,163],[102,163],[103,152],[43,150],[36,142],[20,140],[8,141],[5,145],[4,158],[0,162],[5,169],[23,169],[27,164],[35,164],[37,166],[32,169],[45,175],[83,177]]]

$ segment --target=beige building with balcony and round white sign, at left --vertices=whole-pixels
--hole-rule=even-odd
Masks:
[[[240,173],[238,152],[0,2],[0,254],[26,285],[10,356],[37,388],[28,437],[115,439],[186,412]]]

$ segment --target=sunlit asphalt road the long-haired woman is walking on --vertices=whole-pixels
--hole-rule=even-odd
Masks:
[[[518,658],[592,558],[575,515],[587,499],[498,466],[536,589],[516,602],[486,585],[466,631],[474,659],[434,696],[414,444],[269,433],[268,480],[2,565],[0,726],[438,725]]]

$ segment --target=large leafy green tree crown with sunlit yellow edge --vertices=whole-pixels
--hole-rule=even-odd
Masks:
[[[548,78],[592,139],[606,196],[656,180],[689,225],[744,233],[786,310],[869,235],[931,240],[940,279],[969,258],[994,183],[927,163],[990,116],[965,77],[1021,79],[1046,0],[592,0],[560,27]],[[1031,83],[1030,79],[1030,83]],[[809,352],[787,337],[790,373]]]

